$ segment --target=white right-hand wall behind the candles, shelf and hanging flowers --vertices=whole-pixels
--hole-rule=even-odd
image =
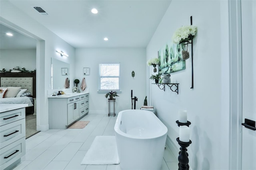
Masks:
[[[160,90],[148,82],[147,94],[158,117],[168,127],[168,146],[178,157],[180,146],[178,111],[188,111],[189,165],[193,170],[226,170],[229,167],[229,59],[228,2],[173,0],[147,46],[147,59],[154,58],[174,31],[182,25],[198,27],[194,38],[194,88],[191,89],[191,58],[186,70],[171,74],[179,83],[179,94]],[[152,70],[147,73],[149,77]]]

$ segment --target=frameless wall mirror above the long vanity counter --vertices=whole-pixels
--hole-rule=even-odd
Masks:
[[[52,58],[51,65],[51,89],[64,88],[66,78],[70,79],[69,64]]]

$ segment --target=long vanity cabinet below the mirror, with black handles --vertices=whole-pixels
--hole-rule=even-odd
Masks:
[[[49,129],[66,129],[89,112],[89,94],[49,96]]]

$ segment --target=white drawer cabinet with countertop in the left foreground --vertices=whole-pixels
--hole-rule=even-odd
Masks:
[[[26,153],[27,106],[0,104],[0,170],[14,167]]]

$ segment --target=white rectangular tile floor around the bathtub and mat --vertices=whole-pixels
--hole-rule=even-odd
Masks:
[[[116,117],[89,114],[84,129],[50,129],[26,139],[26,155],[14,170],[120,170],[119,165],[81,165],[96,136],[114,136]],[[177,170],[178,161],[166,147],[161,170]]]

